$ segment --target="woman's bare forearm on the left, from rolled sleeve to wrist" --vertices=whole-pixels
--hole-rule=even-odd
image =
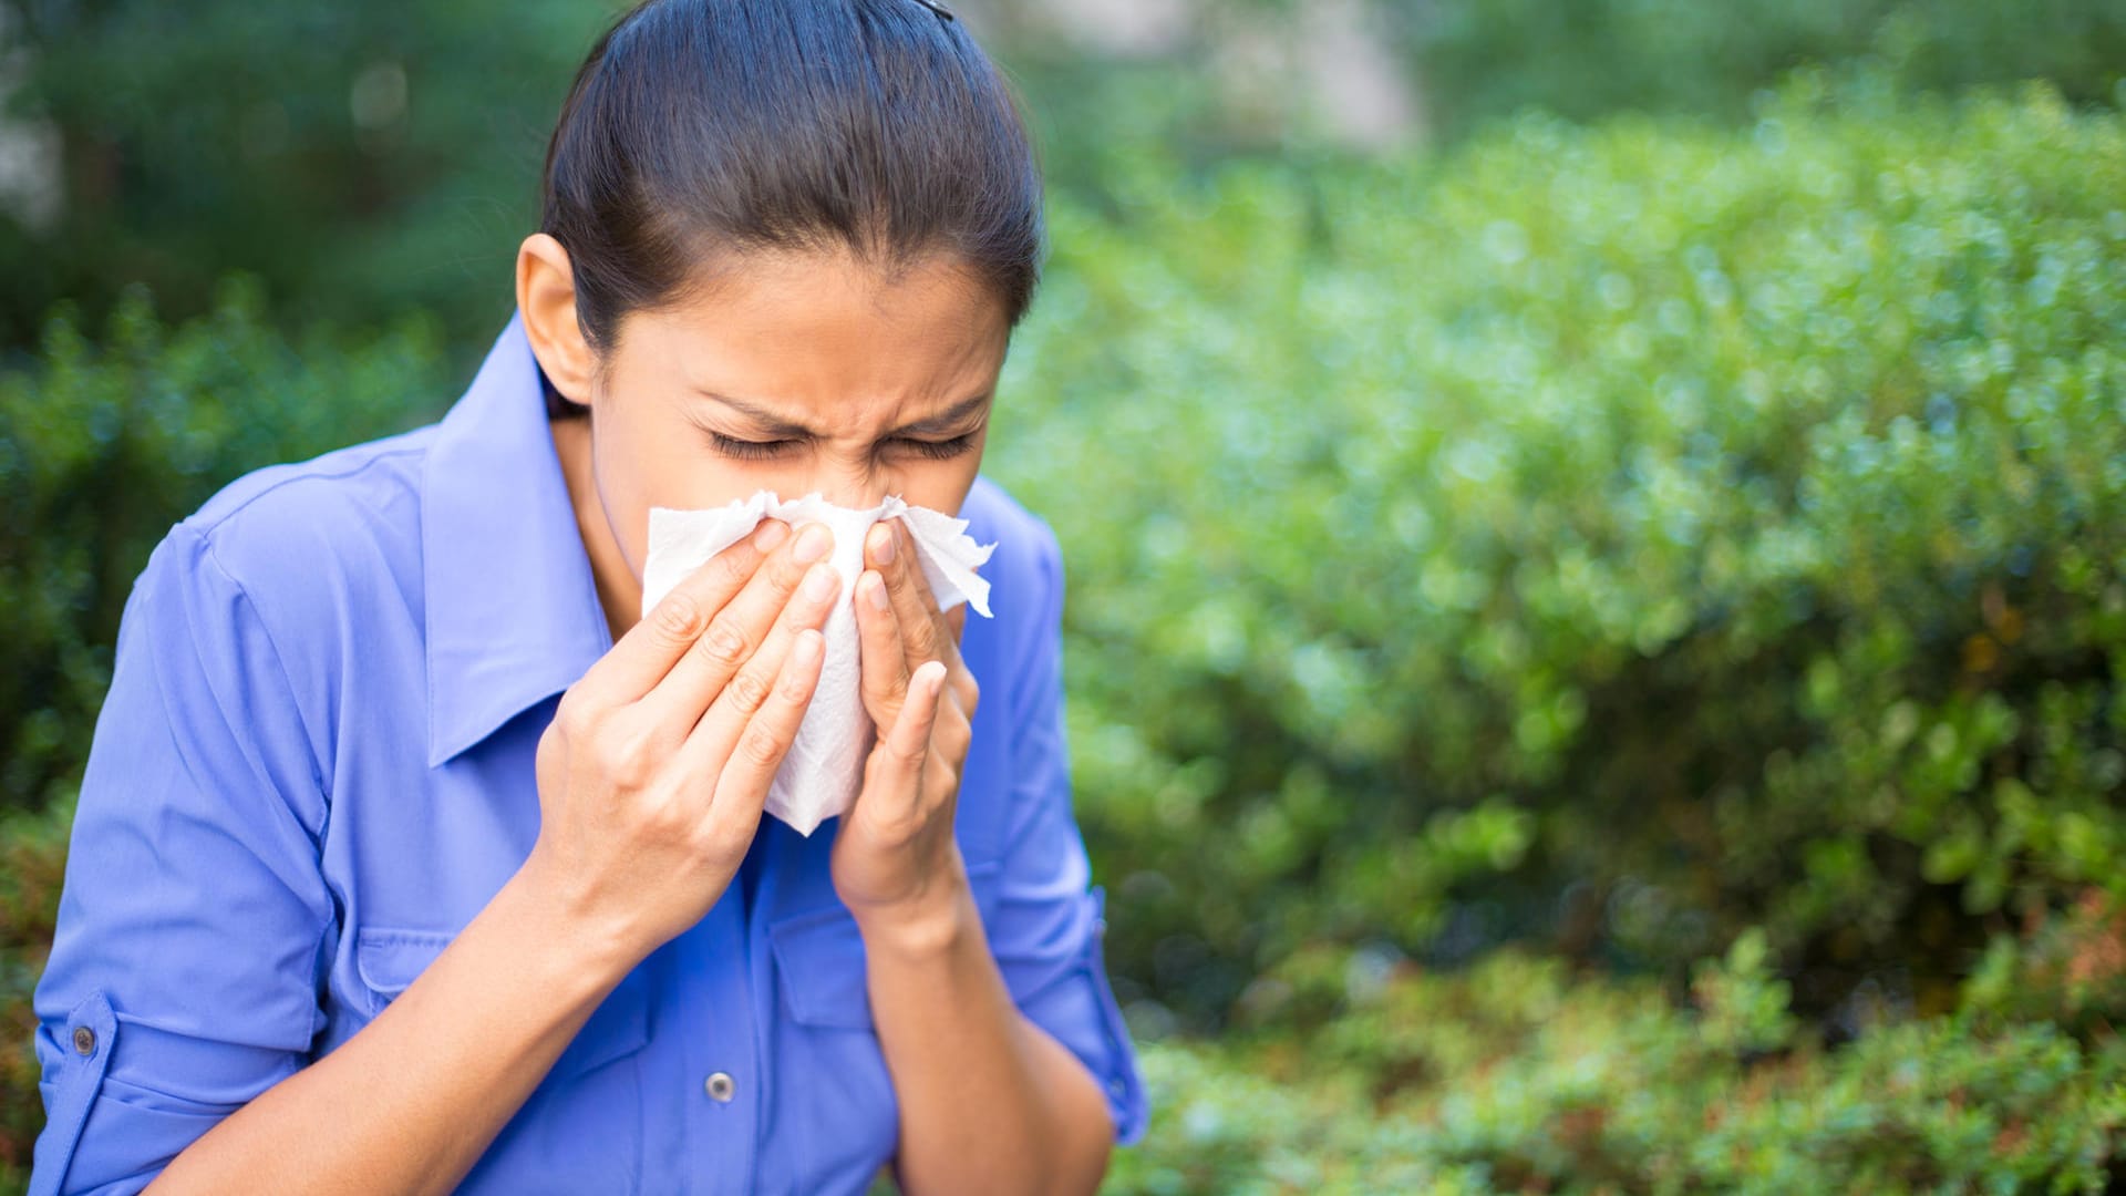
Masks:
[[[202,1134],[149,1187],[449,1192],[634,960],[519,870],[338,1049]]]

